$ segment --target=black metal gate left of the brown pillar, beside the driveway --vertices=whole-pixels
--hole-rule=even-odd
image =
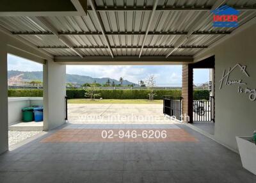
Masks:
[[[181,120],[181,100],[182,97],[164,96],[164,115],[175,116],[177,120]]]

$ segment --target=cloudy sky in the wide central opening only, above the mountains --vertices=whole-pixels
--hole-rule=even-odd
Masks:
[[[156,76],[156,84],[158,86],[170,86],[170,84],[181,83],[181,66],[97,66],[97,65],[68,65],[68,74],[80,74],[91,77],[111,77],[113,79],[119,79],[124,77],[133,83],[138,83],[140,80],[147,80],[150,75]],[[179,77],[180,76],[180,77]]]

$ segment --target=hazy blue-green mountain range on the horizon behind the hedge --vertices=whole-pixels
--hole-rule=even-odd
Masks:
[[[8,70],[8,79],[22,79],[25,81],[43,81],[43,72],[42,71],[19,71],[19,70]],[[116,79],[111,79],[109,77],[102,78],[94,78],[90,76],[81,76],[76,74],[66,74],[67,83],[76,83],[76,84],[84,84],[84,83],[93,83],[94,81],[99,84],[106,84],[106,82],[110,81],[112,84],[113,81],[115,84],[120,84],[120,81]],[[138,84],[132,83],[131,81],[124,80],[124,85],[134,84],[134,86],[138,86]]]

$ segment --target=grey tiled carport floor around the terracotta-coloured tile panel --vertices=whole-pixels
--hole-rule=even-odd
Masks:
[[[0,182],[256,182],[238,154],[179,128],[198,141],[43,142],[52,131],[1,155]]]

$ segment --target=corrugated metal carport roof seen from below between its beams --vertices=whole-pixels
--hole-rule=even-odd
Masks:
[[[211,8],[214,0],[159,0],[157,11],[152,19],[149,28],[151,34],[147,35],[145,47],[141,55],[145,56],[164,56],[175,45],[182,35],[166,35],[168,33],[187,33],[196,23],[198,17],[202,17],[205,11],[170,11],[165,8]],[[89,4],[89,3],[88,3]],[[150,19],[154,0],[96,0],[96,8],[99,8],[100,19],[106,31],[106,37],[112,47],[115,56],[136,56],[140,54],[140,47],[143,44],[145,31],[147,31],[148,20]],[[255,7],[255,0],[228,0],[229,6]],[[109,8],[116,8],[108,11]],[[120,8],[134,8],[134,11],[119,10]],[[145,8],[145,11],[136,11],[136,8]],[[163,10],[160,10],[160,9]],[[256,17],[256,10],[241,10],[239,15],[239,25],[241,26],[248,20]],[[87,16],[76,17],[45,17],[59,33],[87,33],[87,35],[63,35],[70,40],[74,47],[90,47],[76,50],[83,56],[110,56],[107,42],[100,32],[97,19],[92,10],[88,10]],[[0,17],[0,25],[15,33],[40,32],[50,33],[51,31],[36,17]],[[230,32],[234,28],[214,28],[212,27],[212,15],[201,22],[195,31],[198,32]],[[119,34],[118,33],[122,33]],[[124,35],[130,33],[130,35]],[[158,35],[152,35],[157,33]],[[113,35],[111,35],[113,34]],[[161,35],[162,34],[162,35]],[[28,40],[38,47],[65,47],[55,35],[17,35]],[[185,46],[209,46],[225,35],[191,35],[182,44]],[[124,48],[120,48],[124,47]],[[127,47],[127,48],[126,48]],[[156,47],[156,48],[147,48]],[[43,49],[43,48],[42,48]],[[76,52],[63,48],[44,48],[54,56],[75,56]],[[179,48],[173,55],[191,55],[202,51],[202,48]]]

